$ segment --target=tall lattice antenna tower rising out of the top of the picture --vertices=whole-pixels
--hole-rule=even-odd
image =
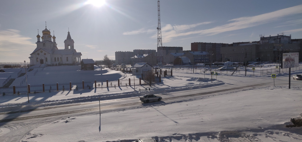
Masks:
[[[157,62],[163,63],[163,56],[162,56],[162,30],[160,27],[160,5],[159,0],[157,1],[157,11],[158,11],[158,24],[157,24]]]

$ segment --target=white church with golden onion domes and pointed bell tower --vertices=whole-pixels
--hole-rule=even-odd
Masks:
[[[50,66],[59,65],[79,65],[81,63],[81,52],[74,49],[74,41],[71,39],[69,30],[67,38],[64,41],[65,49],[58,49],[56,37],[50,35],[50,31],[46,28],[42,31],[42,37],[37,35],[37,48],[28,57],[31,65],[47,64]],[[40,41],[40,38],[42,41]],[[53,39],[53,41],[51,40]]]

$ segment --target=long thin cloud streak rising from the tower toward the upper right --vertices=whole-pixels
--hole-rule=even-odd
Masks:
[[[278,11],[260,14],[257,16],[239,17],[239,18],[231,19],[227,21],[231,23],[222,26],[216,26],[211,29],[195,30],[195,31],[188,31],[188,30],[196,26],[202,24],[208,24],[211,22],[204,22],[204,23],[198,23],[192,25],[175,25],[175,26],[172,26],[171,24],[167,24],[162,28],[162,38],[164,39],[165,42],[170,42],[173,38],[179,36],[188,36],[193,34],[212,36],[223,32],[245,29],[254,26],[259,26],[265,23],[271,23],[281,18],[288,17],[289,15],[301,14],[301,13],[302,13],[302,5],[297,5],[294,7],[285,8]],[[296,22],[298,23],[299,21],[300,20],[297,20]],[[156,39],[157,35],[152,36],[152,38]]]

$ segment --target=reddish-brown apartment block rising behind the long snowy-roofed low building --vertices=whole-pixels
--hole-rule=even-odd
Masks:
[[[227,43],[208,43],[208,42],[194,42],[191,43],[191,51],[206,51],[214,54],[212,57],[213,62],[221,62],[222,54],[220,49],[222,47],[228,47]]]

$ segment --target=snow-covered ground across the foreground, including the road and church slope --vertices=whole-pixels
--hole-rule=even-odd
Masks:
[[[41,78],[95,80],[93,76],[99,74],[108,80],[133,78],[109,69],[74,67],[37,68],[38,73],[28,78],[32,84],[42,83]],[[128,142],[155,136],[169,142],[302,141],[301,127],[285,127],[290,118],[302,113],[302,81],[291,77],[289,89],[288,72],[274,80],[251,69],[247,76],[243,71],[233,75],[222,71],[211,79],[208,72],[182,69],[173,70],[172,77],[162,77],[152,87],[136,85],[135,91],[134,86],[121,86],[32,93],[28,98],[27,94],[1,96],[0,141]],[[302,74],[302,69],[291,74]],[[140,92],[140,88],[150,91]],[[139,101],[138,96],[149,93],[162,96],[162,101]]]

